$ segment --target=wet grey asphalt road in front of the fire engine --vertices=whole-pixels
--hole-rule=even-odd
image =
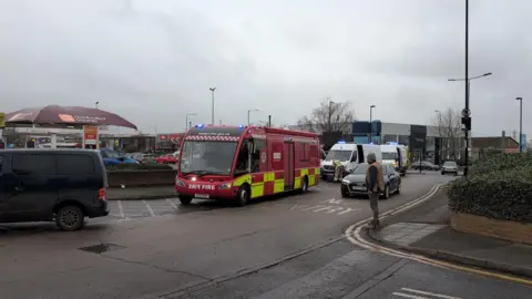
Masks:
[[[381,200],[380,208],[401,207],[449,179],[407,175],[401,194]],[[369,204],[341,198],[338,184],[245,207],[170,202],[176,208],[149,202],[154,214],[153,203],[167,206],[152,216],[139,200],[144,207],[132,210],[147,210],[142,217],[126,218],[123,206],[124,218],[90,219],[74,233],[53,224],[7,226],[0,235],[0,297],[466,299],[530,298],[532,291],[355,246],[345,230],[370,217]]]

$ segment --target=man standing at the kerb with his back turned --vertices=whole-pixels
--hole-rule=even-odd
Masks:
[[[368,162],[368,169],[366,171],[366,186],[369,195],[369,206],[374,213],[374,219],[370,223],[370,228],[380,229],[379,221],[379,196],[385,189],[385,177],[382,176],[382,166],[377,162],[374,153],[369,153],[366,157]]]

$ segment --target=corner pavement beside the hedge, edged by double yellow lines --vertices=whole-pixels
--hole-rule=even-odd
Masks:
[[[395,249],[532,278],[532,246],[456,231],[449,226],[448,197],[430,200],[382,220],[369,237]]]

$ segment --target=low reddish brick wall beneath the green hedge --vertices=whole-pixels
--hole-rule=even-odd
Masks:
[[[532,225],[495,220],[482,216],[451,212],[451,227],[458,231],[532,245]]]

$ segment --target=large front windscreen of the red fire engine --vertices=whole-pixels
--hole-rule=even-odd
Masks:
[[[236,142],[185,141],[180,171],[182,173],[229,175]]]

